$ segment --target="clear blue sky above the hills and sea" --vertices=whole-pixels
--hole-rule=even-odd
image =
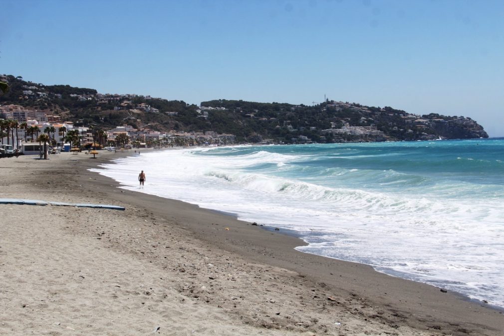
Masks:
[[[150,94],[334,100],[504,136],[502,0],[0,0],[0,73]]]

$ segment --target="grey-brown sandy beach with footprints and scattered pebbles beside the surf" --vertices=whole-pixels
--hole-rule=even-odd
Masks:
[[[0,334],[504,334],[482,302],[88,171],[133,154],[0,159],[0,198],[125,207],[0,204]]]

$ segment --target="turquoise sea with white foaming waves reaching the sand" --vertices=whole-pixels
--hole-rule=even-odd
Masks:
[[[96,171],[504,308],[504,139],[169,149]]]

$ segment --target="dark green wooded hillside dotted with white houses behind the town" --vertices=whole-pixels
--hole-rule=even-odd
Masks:
[[[487,138],[476,121],[457,116],[411,115],[392,107],[326,101],[313,106],[242,100],[204,101],[201,106],[136,94],[101,94],[69,85],[43,85],[3,76],[10,92],[0,105],[22,105],[77,126],[128,124],[154,131],[215,131],[239,141],[275,143],[401,141]]]

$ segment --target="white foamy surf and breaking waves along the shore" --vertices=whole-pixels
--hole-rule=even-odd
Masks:
[[[394,170],[317,170],[304,165],[318,159],[313,154],[219,150],[224,155],[143,153],[96,171],[138,190],[144,170],[147,182],[138,191],[298,231],[309,243],[300,251],[370,264],[504,307],[501,194],[478,198],[469,183],[433,183]]]

